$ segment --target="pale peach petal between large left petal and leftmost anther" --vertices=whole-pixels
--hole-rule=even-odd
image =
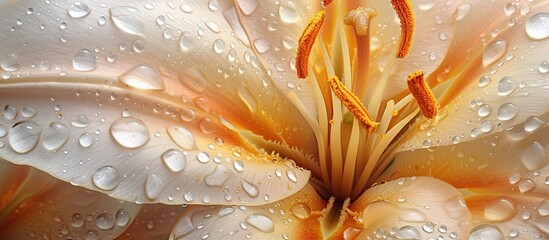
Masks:
[[[282,92],[294,91],[316,118],[315,90],[311,86],[316,83],[297,78],[295,57],[297,40],[309,18],[320,10],[320,1],[235,2],[242,31],[250,39],[249,44],[253,45],[270,78]]]

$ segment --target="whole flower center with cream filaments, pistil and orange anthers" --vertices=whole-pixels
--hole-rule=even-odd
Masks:
[[[377,12],[371,7],[346,11],[342,7],[344,4],[330,6],[338,8],[336,11],[327,9],[315,14],[298,41],[297,76],[318,84],[315,94],[319,119],[300,108],[303,104],[295,94],[290,94],[317,138],[321,173],[314,177],[320,181],[313,179],[311,182],[326,199],[334,197],[338,202],[356,199],[373,184],[394,157],[389,145],[420,109],[427,118],[437,115],[436,100],[422,71],[408,78],[411,94],[404,94],[405,97],[397,99],[396,103],[393,99],[383,101],[395,59],[406,57],[412,45],[414,15],[410,2],[391,0],[400,19],[400,43],[395,44],[392,55],[395,57],[385,65],[373,91],[367,91],[365,82],[370,57],[370,24]],[[334,34],[320,34],[326,15],[334,12],[335,16],[329,18],[335,20],[330,22]],[[342,12],[347,12],[344,17]],[[354,34],[347,31],[349,25]],[[329,38],[329,42],[324,42],[324,38]],[[313,47],[316,47],[315,51]],[[326,92],[327,89],[330,90]],[[412,103],[414,98],[419,109]],[[415,106],[411,111],[408,110],[410,105]],[[405,107],[404,113],[399,114]]]

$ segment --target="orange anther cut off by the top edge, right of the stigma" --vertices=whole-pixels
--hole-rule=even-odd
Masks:
[[[400,48],[397,58],[404,58],[410,52],[414,38],[415,20],[412,4],[409,0],[391,0],[391,4],[400,19]]]

